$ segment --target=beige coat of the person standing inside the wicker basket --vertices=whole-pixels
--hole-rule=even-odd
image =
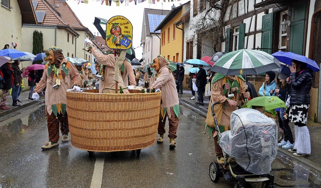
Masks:
[[[114,56],[113,53],[108,55],[100,54],[95,47],[91,48],[91,52],[99,64],[106,65],[104,80],[99,80],[99,92],[102,92],[102,89],[106,87],[115,88],[116,81],[114,80],[114,75],[115,75],[116,57]],[[117,70],[117,72],[119,74],[119,78],[121,78],[120,71]],[[121,86],[122,88],[125,88],[125,85],[122,79],[119,79],[118,88],[119,86]]]

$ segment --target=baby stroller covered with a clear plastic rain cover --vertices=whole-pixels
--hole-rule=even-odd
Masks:
[[[231,130],[221,133],[214,112],[214,105],[218,103],[212,104],[212,115],[225,162],[222,166],[211,162],[211,180],[217,182],[224,177],[234,181],[234,187],[238,188],[246,187],[246,182],[262,182],[262,187],[274,187],[274,176],[269,172],[277,154],[276,122],[258,110],[241,108],[231,114]]]

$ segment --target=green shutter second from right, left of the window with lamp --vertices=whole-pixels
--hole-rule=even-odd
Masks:
[[[272,48],[273,40],[273,12],[262,16],[262,48]],[[267,53],[272,53],[272,49],[262,49]]]

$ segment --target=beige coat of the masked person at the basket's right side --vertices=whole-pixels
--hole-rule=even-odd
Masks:
[[[179,104],[179,96],[176,90],[176,83],[173,73],[168,66],[164,66],[158,71],[157,79],[150,86],[151,88],[161,88],[162,104],[161,107],[172,107]]]

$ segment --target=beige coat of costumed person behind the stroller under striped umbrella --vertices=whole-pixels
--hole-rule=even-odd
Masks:
[[[223,83],[223,79],[224,78],[221,78],[212,84],[211,102],[214,103],[216,101],[220,101],[221,103],[225,104],[225,108],[222,114],[221,124],[224,126],[230,126],[231,113],[234,110],[238,109],[238,107],[230,106],[227,101],[227,97],[223,95],[224,88],[222,87],[222,85],[225,84]],[[235,99],[236,101],[238,101],[239,105],[241,105],[241,101],[242,101],[241,95],[245,93],[245,88],[246,88],[246,83],[245,81],[241,80],[240,93],[237,93],[237,91],[234,92],[234,96],[236,96]]]

